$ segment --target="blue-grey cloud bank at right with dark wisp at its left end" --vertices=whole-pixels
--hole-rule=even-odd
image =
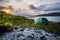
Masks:
[[[40,5],[39,7],[35,7],[35,6],[32,5],[30,7],[30,9],[36,10],[36,12],[40,12],[40,13],[41,13],[41,11],[44,11],[45,13],[49,13],[49,12],[60,12],[60,3]]]

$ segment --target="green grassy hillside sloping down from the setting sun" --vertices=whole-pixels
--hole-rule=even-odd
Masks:
[[[28,19],[23,16],[15,16],[12,14],[8,14],[6,12],[0,11],[0,24],[10,22],[14,25],[22,25],[22,24],[31,24],[33,23],[33,19]]]

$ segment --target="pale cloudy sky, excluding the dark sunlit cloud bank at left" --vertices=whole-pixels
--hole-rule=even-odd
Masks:
[[[0,0],[0,6],[12,7],[15,15],[40,15],[60,12],[60,0]]]

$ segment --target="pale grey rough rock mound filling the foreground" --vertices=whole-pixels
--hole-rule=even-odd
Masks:
[[[60,40],[60,37],[44,30],[18,28],[13,32],[5,33],[0,40]]]

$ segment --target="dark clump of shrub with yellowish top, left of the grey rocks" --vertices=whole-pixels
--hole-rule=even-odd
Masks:
[[[0,33],[13,31],[13,25],[11,23],[0,24]]]

